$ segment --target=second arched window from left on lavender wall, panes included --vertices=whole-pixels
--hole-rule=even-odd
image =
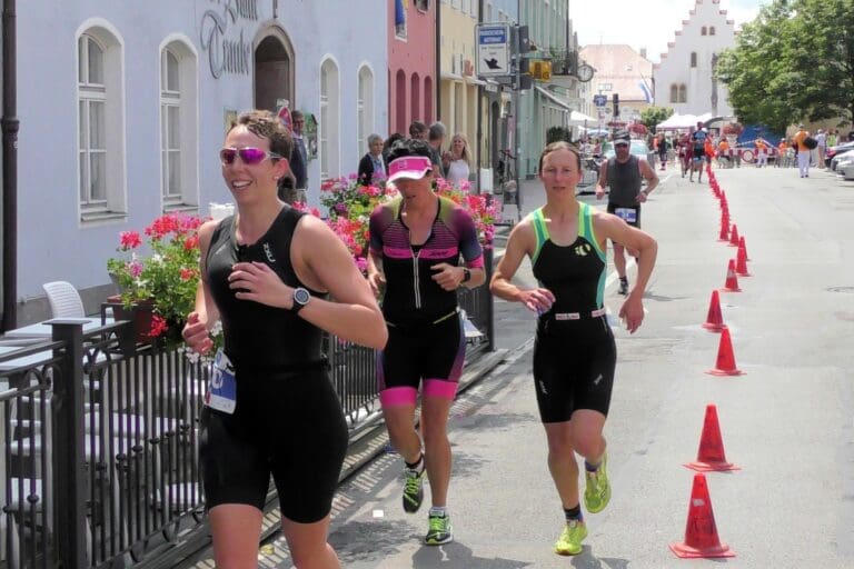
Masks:
[[[160,184],[163,210],[198,204],[196,54],[183,41],[160,52]]]

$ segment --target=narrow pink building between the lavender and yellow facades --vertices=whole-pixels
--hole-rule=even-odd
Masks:
[[[388,134],[436,117],[437,0],[388,0]]]

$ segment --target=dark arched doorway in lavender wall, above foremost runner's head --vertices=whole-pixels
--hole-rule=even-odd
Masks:
[[[277,112],[282,101],[294,107],[292,57],[277,34],[267,36],[255,50],[255,107]]]

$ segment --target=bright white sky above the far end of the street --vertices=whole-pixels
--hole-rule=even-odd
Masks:
[[[569,16],[579,44],[628,43],[637,50],[646,48],[647,58],[658,63],[694,3],[695,0],[570,0]],[[721,0],[719,7],[738,29],[767,3],[769,0]]]

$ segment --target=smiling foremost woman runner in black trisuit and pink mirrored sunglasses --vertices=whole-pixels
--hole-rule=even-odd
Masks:
[[[201,281],[183,329],[217,352],[200,425],[200,463],[220,569],[257,567],[272,475],[294,565],[334,569],[327,543],[347,425],[321,333],[380,349],[388,337],[364,277],[326,224],[277,198],[292,141],[272,113],[241,114],[220,151],[237,214],[199,229]],[[326,299],[330,295],[335,302]]]

